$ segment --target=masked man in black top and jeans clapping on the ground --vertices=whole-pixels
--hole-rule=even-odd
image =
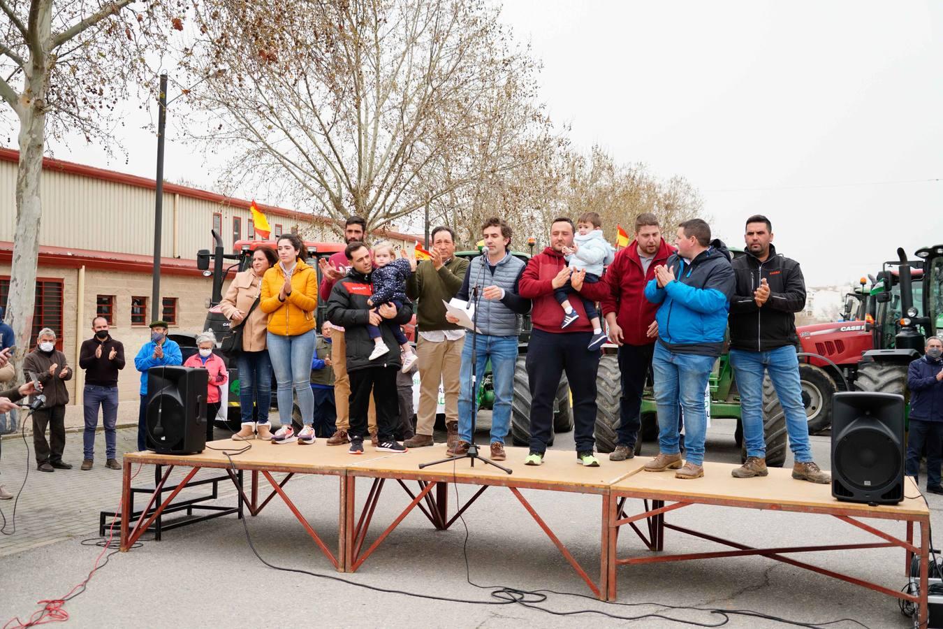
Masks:
[[[91,470],[95,457],[99,406],[105,426],[105,467],[121,470],[117,457],[115,423],[118,422],[118,372],[124,369],[124,345],[108,334],[108,319],[105,317],[91,320],[91,332],[94,336],[82,341],[78,352],[78,366],[85,370],[82,397],[85,410],[85,432],[82,434],[85,455],[82,470]]]

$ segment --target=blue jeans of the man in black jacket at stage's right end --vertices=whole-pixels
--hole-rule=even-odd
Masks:
[[[763,438],[763,371],[766,370],[786,414],[789,448],[797,463],[811,461],[809,422],[802,404],[796,348],[786,345],[768,352],[731,349],[730,366],[734,368],[736,389],[740,391],[740,422],[743,423],[747,456],[766,456],[766,440]]]

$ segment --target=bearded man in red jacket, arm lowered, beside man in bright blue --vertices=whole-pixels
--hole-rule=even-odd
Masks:
[[[642,403],[645,378],[652,370],[654,341],[658,324],[654,313],[658,306],[645,299],[645,285],[654,278],[654,268],[665,264],[674,252],[661,237],[658,218],[651,212],[639,214],[632,244],[620,250],[605,272],[609,294],[602,298],[609,341],[619,345],[619,371],[622,397],[619,401],[619,427],[616,449],[610,461],[624,461],[635,456],[638,412]]]

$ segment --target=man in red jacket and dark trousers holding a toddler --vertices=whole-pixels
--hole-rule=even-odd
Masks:
[[[554,429],[554,401],[560,376],[564,371],[570,380],[573,395],[573,435],[576,439],[577,462],[589,467],[599,467],[593,455],[596,440],[593,428],[596,425],[596,372],[599,369],[600,350],[589,350],[592,326],[583,309],[583,300],[576,299],[571,306],[579,318],[566,328],[560,328],[560,305],[554,298],[554,290],[570,279],[571,269],[563,257],[564,247],[573,246],[573,222],[566,218],[554,219],[550,227],[550,246],[527,262],[518,284],[521,297],[530,299],[531,322],[534,331],[527,348],[527,378],[531,392],[530,453],[525,465],[540,465]],[[573,288],[582,287],[590,299],[601,283],[583,287],[585,271],[572,273],[578,282]],[[593,287],[593,288],[589,288]],[[598,290],[598,289],[596,289]]]

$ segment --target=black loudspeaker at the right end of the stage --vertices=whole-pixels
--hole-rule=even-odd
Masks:
[[[903,396],[847,391],[833,401],[832,495],[849,503],[900,503]]]

